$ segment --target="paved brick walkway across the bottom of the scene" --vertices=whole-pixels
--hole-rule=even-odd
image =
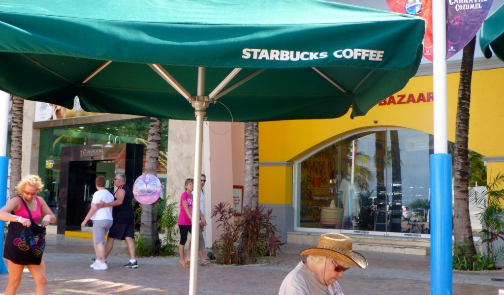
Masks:
[[[286,244],[284,254],[268,258],[269,264],[198,267],[198,294],[277,294],[285,275],[301,259],[305,246]],[[94,257],[90,239],[47,235],[44,259],[50,294],[187,294],[190,269],[178,266],[178,257],[139,258],[139,268],[122,265],[127,258],[117,255],[124,243],[115,244],[108,259],[109,269],[89,267]],[[367,269],[351,268],[339,280],[345,295],[429,294],[429,256],[364,252]],[[34,294],[34,283],[25,269],[18,294]],[[497,294],[504,288],[504,271],[454,272],[453,294]],[[0,291],[8,275],[0,274]],[[3,293],[1,293],[3,294]]]

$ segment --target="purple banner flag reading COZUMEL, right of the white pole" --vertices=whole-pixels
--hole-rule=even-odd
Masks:
[[[469,43],[481,28],[493,0],[446,1],[446,59]]]

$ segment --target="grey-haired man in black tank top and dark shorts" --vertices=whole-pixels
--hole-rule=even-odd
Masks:
[[[125,268],[137,268],[138,262],[135,259],[135,223],[133,217],[133,192],[126,185],[126,176],[123,173],[116,173],[114,185],[117,190],[114,193],[115,200],[110,203],[101,203],[102,207],[113,206],[112,217],[114,218],[112,227],[108,231],[107,244],[105,245],[105,259],[114,247],[115,239],[124,240],[128,246],[130,261],[124,264]]]

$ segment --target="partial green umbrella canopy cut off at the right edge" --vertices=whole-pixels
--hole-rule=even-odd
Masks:
[[[504,61],[504,5],[501,5],[481,25],[479,46],[486,58],[492,57],[493,51],[495,56]]]

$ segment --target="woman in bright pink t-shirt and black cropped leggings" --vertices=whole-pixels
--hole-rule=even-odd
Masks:
[[[178,253],[180,254],[180,267],[189,267],[185,261],[184,246],[187,242],[187,234],[191,233],[193,218],[193,188],[194,179],[185,180],[185,191],[180,196],[180,213],[178,214],[178,229],[180,231],[180,243],[178,243]]]

